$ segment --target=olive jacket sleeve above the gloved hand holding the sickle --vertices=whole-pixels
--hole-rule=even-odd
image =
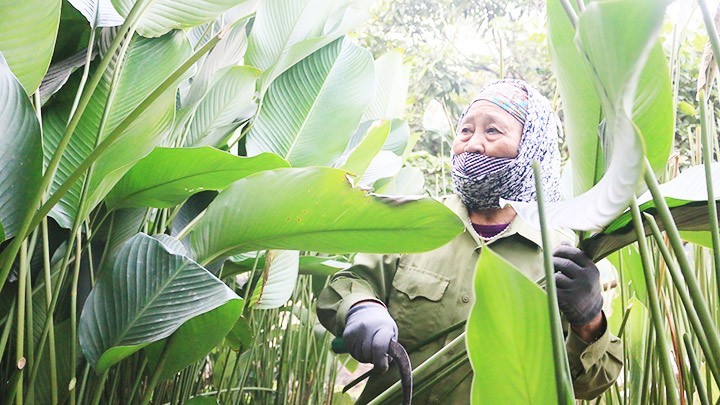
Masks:
[[[358,254],[353,266],[336,273],[320,293],[317,315],[335,336],[342,336],[347,313],[363,301],[386,304],[398,255]]]

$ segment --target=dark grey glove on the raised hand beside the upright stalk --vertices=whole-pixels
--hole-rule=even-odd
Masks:
[[[571,325],[590,323],[602,310],[600,271],[585,253],[561,245],[553,253],[558,306]]]

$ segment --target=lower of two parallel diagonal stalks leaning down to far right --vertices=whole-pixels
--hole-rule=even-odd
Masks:
[[[665,264],[667,265],[668,271],[670,272],[670,276],[672,277],[673,282],[675,283],[675,289],[678,292],[678,295],[680,296],[680,301],[683,303],[683,306],[685,307],[685,313],[688,316],[688,319],[690,321],[690,325],[692,326],[693,330],[695,331],[696,338],[698,340],[698,343],[700,343],[700,347],[702,348],[703,352],[705,353],[705,358],[707,359],[708,368],[712,372],[715,381],[720,383],[720,370],[718,369],[718,365],[716,362],[716,357],[713,355],[713,352],[710,349],[710,345],[708,344],[707,336],[705,334],[705,329],[703,327],[703,324],[700,322],[700,319],[698,318],[697,312],[695,312],[695,308],[692,306],[692,299],[690,298],[690,294],[687,291],[687,288],[685,288],[685,285],[683,283],[682,274],[680,274],[680,271],[677,268],[677,262],[673,259],[672,255],[670,254],[670,249],[668,249],[667,246],[663,243],[663,237],[660,232],[660,228],[657,225],[657,222],[655,221],[655,218],[653,218],[652,215],[644,214],[645,220],[650,225],[650,229],[652,230],[653,236],[655,237],[655,240],[657,241],[658,249],[660,250],[660,254],[665,259]]]

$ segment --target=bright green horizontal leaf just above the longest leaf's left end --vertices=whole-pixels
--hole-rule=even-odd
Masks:
[[[208,146],[156,148],[125,174],[105,204],[111,209],[169,208],[199,191],[222,190],[251,174],[288,166],[270,153],[244,158]]]

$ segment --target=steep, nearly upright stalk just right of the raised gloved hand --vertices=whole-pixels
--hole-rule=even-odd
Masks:
[[[651,172],[652,173],[652,170]],[[635,197],[632,199],[632,218],[633,225],[635,226],[635,232],[638,236],[638,246],[640,250],[640,257],[643,263],[643,273],[645,274],[645,285],[648,286],[648,301],[650,303],[650,313],[653,324],[655,325],[655,338],[657,340],[657,353],[660,357],[660,366],[662,367],[663,376],[665,377],[665,389],[667,393],[667,400],[669,404],[677,404],[677,387],[675,385],[675,376],[673,375],[672,366],[670,364],[670,358],[668,357],[669,348],[665,340],[665,334],[663,332],[663,318],[660,313],[660,302],[658,299],[658,292],[655,289],[657,285],[655,282],[655,275],[652,272],[653,265],[650,259],[650,252],[647,246],[647,240],[645,239],[645,232],[642,225],[642,219],[640,216],[640,209],[637,205]]]

